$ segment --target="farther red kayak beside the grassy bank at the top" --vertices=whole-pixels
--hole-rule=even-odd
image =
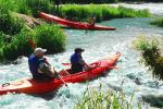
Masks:
[[[114,31],[115,29],[114,27],[109,27],[109,26],[102,26],[102,25],[93,25],[92,26],[88,23],[68,21],[68,20],[61,19],[61,17],[58,17],[58,16],[54,16],[54,15],[51,15],[51,14],[47,14],[47,13],[43,13],[43,12],[41,12],[39,14],[39,16],[41,19],[47,20],[47,21],[55,22],[60,25],[73,27],[73,28],[76,28],[76,29],[91,29],[91,31]]]

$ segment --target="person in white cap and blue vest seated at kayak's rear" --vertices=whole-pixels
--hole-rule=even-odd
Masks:
[[[55,71],[43,57],[47,49],[36,48],[34,55],[28,58],[29,71],[37,81],[50,80],[55,76]]]

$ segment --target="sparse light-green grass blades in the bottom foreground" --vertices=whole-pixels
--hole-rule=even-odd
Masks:
[[[141,109],[141,105],[137,102],[137,106],[133,106],[131,101],[135,92],[126,99],[123,92],[113,92],[108,89],[106,92],[99,89],[87,89],[84,93],[82,100],[75,105],[74,109]]]

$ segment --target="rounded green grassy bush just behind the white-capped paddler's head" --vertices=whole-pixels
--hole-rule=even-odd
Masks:
[[[47,53],[62,52],[65,49],[66,36],[57,25],[42,24],[32,34],[38,47],[47,48]]]

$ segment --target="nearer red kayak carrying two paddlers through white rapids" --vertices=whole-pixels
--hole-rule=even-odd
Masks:
[[[117,52],[111,58],[103,59],[91,64],[98,66],[91,71],[79,72],[70,75],[61,75],[61,78],[53,78],[52,81],[36,82],[33,78],[22,78],[10,83],[0,85],[0,95],[8,93],[25,93],[25,94],[43,94],[58,89],[65,83],[80,83],[87,80],[96,78],[104,73],[106,70],[116,69],[114,65],[117,62],[121,53]],[[68,71],[68,70],[67,70]]]

